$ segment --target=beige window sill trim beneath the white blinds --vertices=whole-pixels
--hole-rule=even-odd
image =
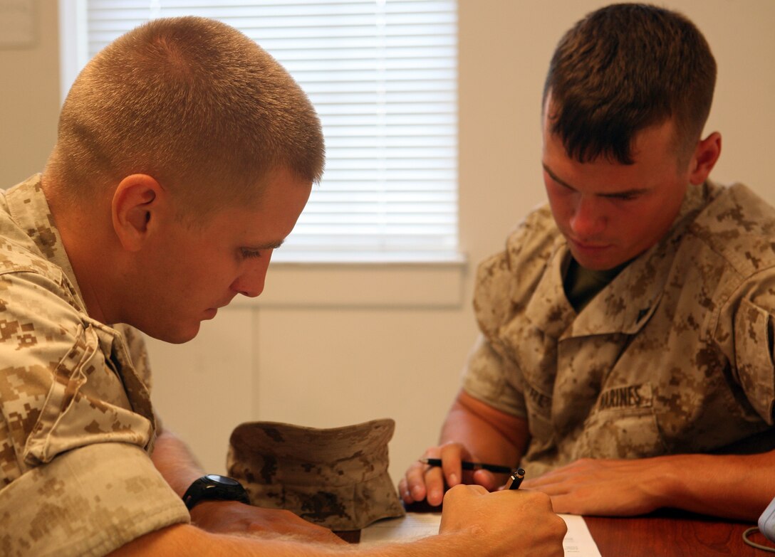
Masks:
[[[463,303],[467,261],[272,261],[258,298],[232,307],[412,307],[451,309]]]

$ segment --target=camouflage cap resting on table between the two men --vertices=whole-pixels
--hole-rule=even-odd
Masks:
[[[395,422],[333,429],[277,422],[238,425],[226,466],[258,507],[284,508],[332,530],[358,530],[403,516],[387,473]]]

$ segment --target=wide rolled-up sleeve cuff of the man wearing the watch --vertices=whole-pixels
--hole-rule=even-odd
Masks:
[[[99,443],[61,454],[0,490],[0,551],[106,555],[190,520],[143,449]]]

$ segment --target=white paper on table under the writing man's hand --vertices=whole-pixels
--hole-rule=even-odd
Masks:
[[[563,540],[566,557],[601,557],[584,518],[576,514],[560,514],[568,527]],[[388,542],[413,542],[439,533],[441,513],[407,513],[403,518],[377,521],[360,531],[360,545],[380,545]]]

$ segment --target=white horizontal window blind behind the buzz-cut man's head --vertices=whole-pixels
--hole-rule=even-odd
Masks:
[[[85,2],[87,58],[149,19],[202,15],[255,39],[301,84],[326,169],[274,258],[458,257],[454,0]]]

